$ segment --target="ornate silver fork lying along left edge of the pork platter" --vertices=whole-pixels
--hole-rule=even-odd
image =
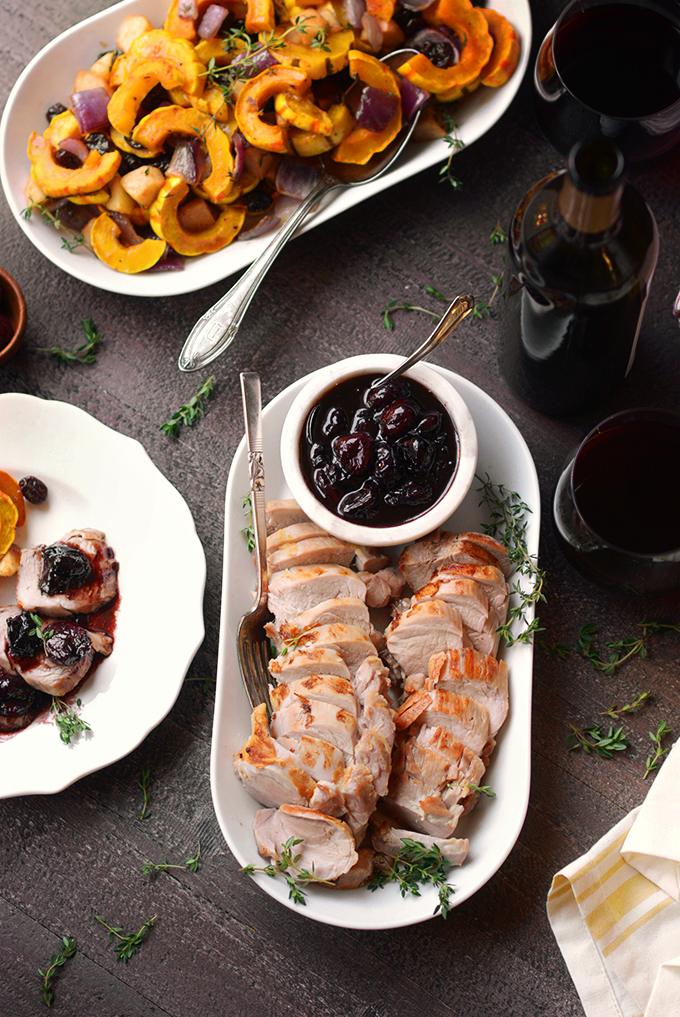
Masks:
[[[244,614],[236,637],[241,677],[254,710],[265,703],[271,716],[269,700],[269,643],[264,633],[264,622],[270,617],[267,608],[266,526],[264,520],[264,461],[262,457],[262,402],[259,375],[254,371],[241,374],[243,416],[248,446],[250,474],[250,502],[255,538],[255,570],[257,590],[255,606]]]

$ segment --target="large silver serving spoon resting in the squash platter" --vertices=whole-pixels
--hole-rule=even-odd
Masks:
[[[390,65],[393,62],[398,66],[399,63],[404,63],[406,57],[415,52],[416,50],[413,49],[395,50],[383,57],[381,62]],[[353,85],[353,88],[355,87],[361,87],[361,82]],[[369,183],[385,173],[398,158],[411,137],[414,127],[420,119],[420,114],[421,110],[418,110],[411,120],[404,124],[394,140],[387,145],[384,152],[374,156],[366,166],[333,163],[332,173],[329,173],[323,160],[320,160],[322,174],[314,188],[280,227],[272,241],[264,248],[259,257],[255,258],[238,283],[196,321],[180,353],[180,370],[197,371],[225,352],[234,341],[250,301],[255,296],[272,261],[287,241],[296,233],[307,214],[329,191],[337,187],[357,187],[360,184]]]

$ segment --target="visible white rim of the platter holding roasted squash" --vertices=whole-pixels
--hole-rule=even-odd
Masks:
[[[122,0],[62,33],[48,43],[27,64],[14,84],[0,121],[0,180],[7,203],[19,227],[50,261],[68,275],[111,293],[138,297],[169,297],[192,293],[244,268],[264,249],[271,235],[237,241],[215,254],[187,258],[182,272],[126,276],[114,272],[82,248],[70,253],[62,247],[61,234],[43,222],[39,214],[26,220],[23,188],[30,164],[25,155],[32,129],[45,130],[45,110],[57,101],[65,102],[73,87],[75,72],[88,67],[97,55],[115,42],[123,17],[145,14],[161,26],[169,0]],[[510,80],[500,88],[480,87],[456,106],[458,140],[471,145],[502,117],[514,99],[529,65],[532,46],[532,15],[529,0],[493,0],[493,8],[517,29],[521,53]],[[389,173],[363,187],[351,187],[329,198],[303,227],[312,229],[372,194],[398,183],[421,170],[448,159],[450,147],[444,140],[414,143]]]

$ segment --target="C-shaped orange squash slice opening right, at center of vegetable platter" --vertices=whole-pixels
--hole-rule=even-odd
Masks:
[[[288,130],[279,124],[268,124],[260,114],[270,99],[280,93],[295,93],[304,99],[311,79],[294,67],[268,67],[243,85],[234,112],[241,133],[250,144],[266,152],[290,152]]]

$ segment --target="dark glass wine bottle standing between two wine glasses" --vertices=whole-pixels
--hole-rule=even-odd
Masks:
[[[595,409],[630,370],[659,254],[654,215],[607,141],[574,145],[512,220],[498,358],[543,413]]]

